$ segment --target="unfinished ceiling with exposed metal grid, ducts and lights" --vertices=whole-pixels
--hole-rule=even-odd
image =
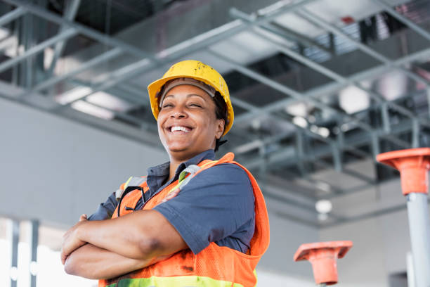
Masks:
[[[325,227],[353,218],[318,220],[317,200],[398,177],[375,155],[430,144],[429,10],[427,0],[1,0],[0,96],[162,148],[146,86],[171,63],[202,60],[235,109],[219,153],[234,151],[268,198]]]

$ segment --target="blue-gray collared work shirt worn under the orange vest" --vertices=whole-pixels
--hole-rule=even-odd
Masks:
[[[150,193],[147,198],[176,181],[189,165],[214,158],[214,150],[196,155],[181,163],[176,169],[175,177],[169,181],[169,162],[150,167],[146,179],[149,187],[147,193]],[[115,193],[112,193],[89,220],[110,218],[116,206]],[[141,208],[143,201],[139,200],[136,210]],[[211,242],[246,253],[254,235],[252,184],[245,170],[235,164],[223,163],[200,172],[181,188],[176,197],[160,203],[154,210],[169,220],[195,254]]]

